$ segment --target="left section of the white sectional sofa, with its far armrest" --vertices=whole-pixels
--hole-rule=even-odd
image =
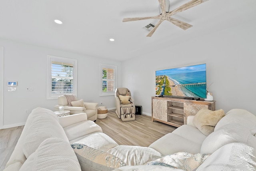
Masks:
[[[92,133],[102,129],[86,113],[57,117],[49,109],[33,109],[4,171],[81,170],[69,139],[75,142]]]

